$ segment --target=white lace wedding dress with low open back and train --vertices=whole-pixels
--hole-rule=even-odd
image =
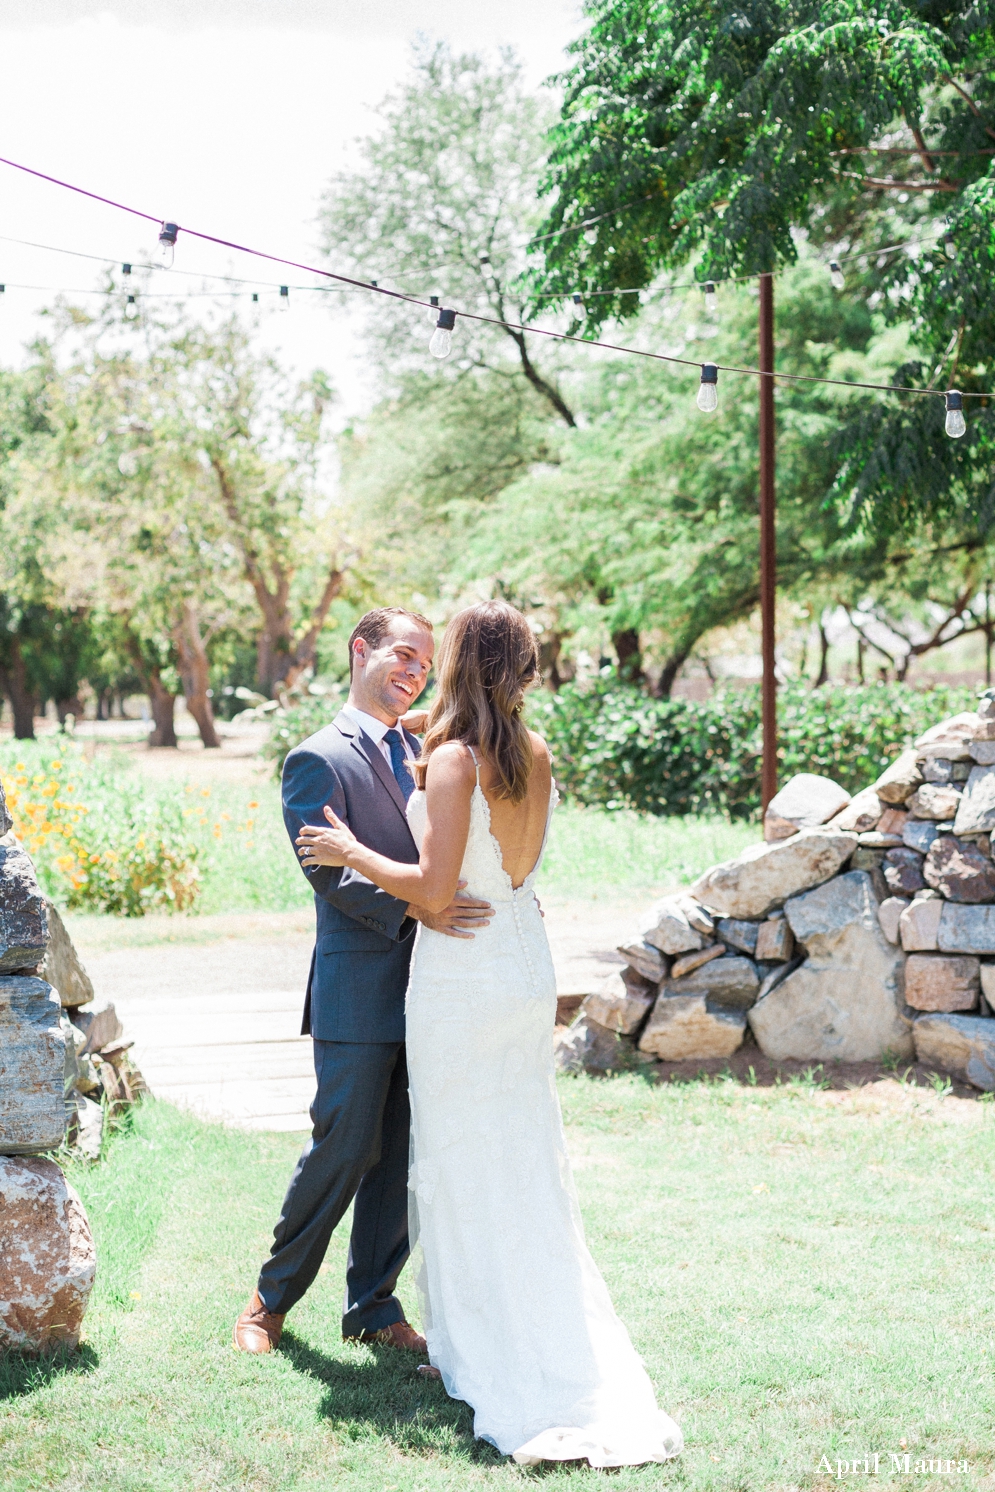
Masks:
[[[407,989],[410,1223],[428,1352],[451,1397],[473,1407],[474,1434],[521,1465],[667,1461],[680,1429],[656,1407],[583,1241],[553,1083],[556,983],[533,892],[542,852],[513,889],[479,779],[477,767],[462,876],[494,921],[473,941],[419,927]],[[407,815],[421,846],[424,792]]]

